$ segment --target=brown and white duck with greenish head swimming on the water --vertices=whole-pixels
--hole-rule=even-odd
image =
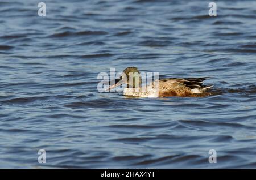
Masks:
[[[129,78],[133,78],[133,84],[129,84]],[[192,97],[203,94],[205,89],[213,86],[203,85],[203,81],[207,78],[168,78],[160,79],[141,87],[141,76],[136,67],[127,67],[123,70],[123,74],[114,85],[109,89],[118,87],[121,84],[127,84],[127,88],[123,89],[123,95],[135,97]],[[132,81],[130,81],[132,82]],[[158,85],[157,85],[158,84]],[[128,88],[130,87],[130,88]]]

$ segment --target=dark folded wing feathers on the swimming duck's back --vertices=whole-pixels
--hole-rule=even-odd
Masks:
[[[186,87],[189,87],[190,89],[195,88],[204,88],[205,85],[203,85],[203,81],[208,79],[209,77],[204,78],[167,78],[167,79],[160,79],[159,82],[173,82],[173,83],[180,83],[185,85]]]

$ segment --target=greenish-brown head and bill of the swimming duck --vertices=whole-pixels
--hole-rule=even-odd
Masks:
[[[111,85],[109,89],[118,87],[121,84],[127,84],[129,88],[138,88],[141,87],[141,76],[137,67],[127,67],[123,70],[122,75],[119,80],[115,81],[114,85]]]

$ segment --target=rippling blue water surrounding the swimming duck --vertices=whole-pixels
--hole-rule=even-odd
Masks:
[[[0,168],[256,168],[255,1],[43,2],[0,2]],[[212,96],[97,91],[129,66]]]

